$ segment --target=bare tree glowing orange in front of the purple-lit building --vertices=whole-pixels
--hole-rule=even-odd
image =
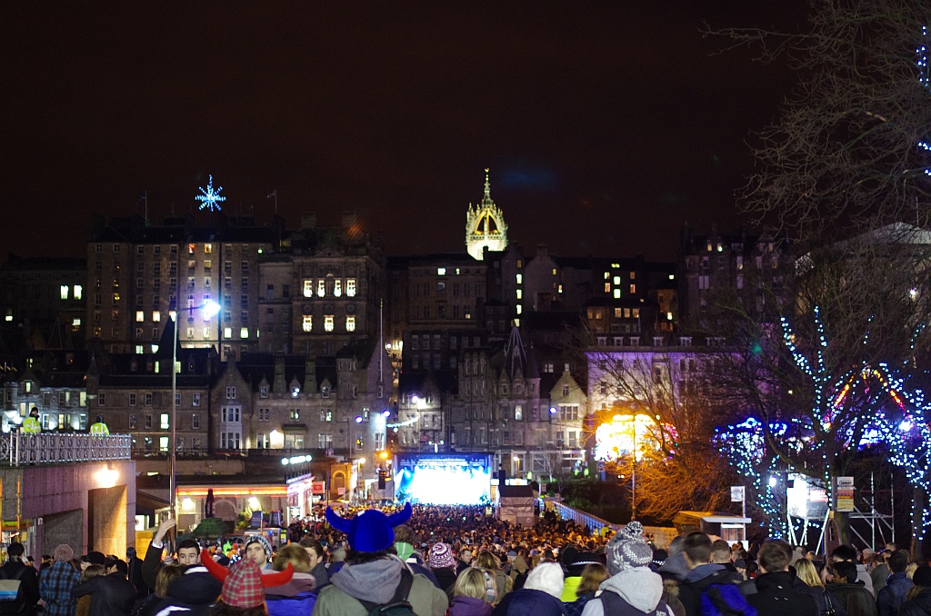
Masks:
[[[734,475],[713,445],[716,415],[708,367],[719,352],[691,348],[597,347],[587,332],[590,399],[596,422],[620,415],[630,435],[608,449],[606,470],[631,485],[638,516],[670,520],[681,510],[718,510]]]

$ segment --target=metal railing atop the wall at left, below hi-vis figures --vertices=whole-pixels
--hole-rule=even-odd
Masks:
[[[130,435],[22,434],[0,437],[0,461],[10,466],[129,460]]]

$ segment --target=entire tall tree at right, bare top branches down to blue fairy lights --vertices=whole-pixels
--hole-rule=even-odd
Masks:
[[[907,411],[924,423],[904,391],[918,390],[910,383],[928,355],[920,325],[931,314],[929,20],[931,6],[912,0],[810,0],[799,33],[716,32],[761,60],[787,60],[798,79],[776,123],[754,138],[758,170],[739,202],[790,240],[794,267],[746,283],[756,297],[708,298],[727,318],[699,324],[742,349],[722,384],[746,412],[719,442],[733,453],[726,435],[758,433],[761,463],[826,487],[852,473],[863,439],[883,432],[892,460],[924,490],[909,469],[926,441],[898,438],[901,422],[890,418]],[[884,384],[895,379],[898,388]]]

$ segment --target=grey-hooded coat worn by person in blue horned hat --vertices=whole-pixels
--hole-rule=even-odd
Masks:
[[[404,563],[395,557],[345,565],[317,595],[314,616],[368,616],[369,610],[358,600],[380,605],[391,601],[403,567]],[[417,616],[444,616],[449,607],[446,594],[423,575],[413,576],[408,601]]]

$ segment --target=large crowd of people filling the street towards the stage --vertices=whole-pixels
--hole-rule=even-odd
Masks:
[[[483,507],[315,511],[277,549],[194,540],[144,558],[59,545],[37,571],[19,543],[0,567],[0,613],[31,616],[931,616],[931,567],[887,545],[830,557],[769,540],[749,550],[701,532],[658,549],[552,514],[533,527]],[[231,556],[233,556],[231,558]]]

